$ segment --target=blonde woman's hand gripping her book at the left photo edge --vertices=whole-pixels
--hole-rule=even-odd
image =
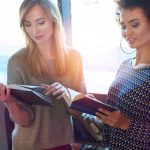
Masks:
[[[0,83],[0,102],[11,103],[13,101],[13,96],[10,94],[10,89],[6,85]]]

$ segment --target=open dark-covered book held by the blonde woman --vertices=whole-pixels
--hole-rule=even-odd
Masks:
[[[26,104],[54,106],[53,96],[46,96],[44,88],[41,86],[11,84],[8,87],[11,89],[11,94],[18,101]]]

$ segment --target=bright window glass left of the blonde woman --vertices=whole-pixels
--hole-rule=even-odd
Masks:
[[[57,0],[54,0],[57,3]],[[19,27],[19,7],[22,0],[4,0],[0,5],[0,82],[7,80],[8,58],[24,46]]]

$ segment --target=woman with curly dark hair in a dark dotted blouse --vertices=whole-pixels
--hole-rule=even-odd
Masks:
[[[108,92],[115,112],[99,109],[104,146],[111,150],[150,150],[150,1],[117,0],[123,38],[136,58],[120,66]]]

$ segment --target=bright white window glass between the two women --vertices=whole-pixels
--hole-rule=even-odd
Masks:
[[[72,43],[82,53],[87,86],[94,92],[106,92],[129,57],[120,49],[115,11],[114,0],[71,0]]]

